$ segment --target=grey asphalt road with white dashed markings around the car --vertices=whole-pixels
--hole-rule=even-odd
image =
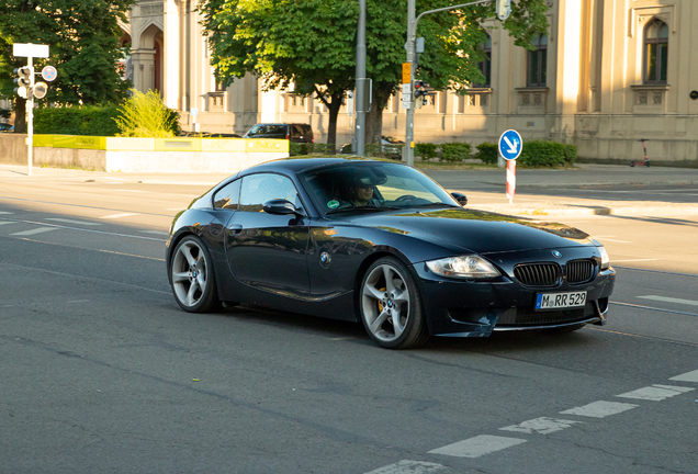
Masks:
[[[698,217],[564,218],[618,269],[603,328],[387,351],[180,311],[164,242],[205,188],[0,182],[0,473],[698,472]]]

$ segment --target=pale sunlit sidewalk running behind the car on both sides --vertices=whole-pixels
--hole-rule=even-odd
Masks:
[[[0,165],[2,182],[104,182],[142,184],[212,187],[227,173],[110,173],[60,168],[33,168],[26,176],[25,166]],[[660,201],[599,201],[598,199],[536,195],[537,189],[584,189],[613,185],[698,184],[698,169],[640,168],[611,165],[578,165],[574,170],[520,170],[517,172],[517,194],[514,204],[505,198],[505,171],[497,170],[426,170],[427,174],[449,191],[465,192],[469,208],[522,216],[573,215],[697,215],[698,196],[694,203]],[[204,190],[201,190],[202,192]],[[540,192],[540,191],[539,191]],[[563,192],[561,192],[562,194]],[[698,190],[696,191],[698,194]]]

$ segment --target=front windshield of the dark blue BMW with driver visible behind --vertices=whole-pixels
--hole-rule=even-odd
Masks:
[[[440,185],[414,168],[384,162],[341,163],[300,174],[323,214],[407,207],[460,207]]]

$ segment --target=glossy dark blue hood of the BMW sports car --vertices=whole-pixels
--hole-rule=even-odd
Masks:
[[[594,246],[588,234],[565,224],[464,208],[401,210],[351,216],[349,221],[477,253]]]

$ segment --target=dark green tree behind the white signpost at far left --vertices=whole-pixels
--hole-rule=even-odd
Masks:
[[[35,59],[58,69],[42,103],[103,104],[121,102],[130,84],[121,79],[116,63],[124,57],[117,21],[135,0],[4,0],[0,3],[0,94],[15,99],[15,132],[24,132],[25,101],[13,93],[12,70],[26,65],[12,55],[13,43],[50,46],[50,58]]]

